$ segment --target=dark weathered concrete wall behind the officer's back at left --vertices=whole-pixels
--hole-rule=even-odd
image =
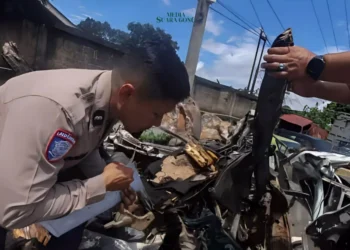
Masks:
[[[23,21],[0,22],[0,45],[13,41],[34,70],[84,68],[112,69],[120,52],[55,27]],[[3,58],[0,67],[9,67]],[[6,80],[0,69],[0,85]],[[8,73],[7,73],[8,74]]]

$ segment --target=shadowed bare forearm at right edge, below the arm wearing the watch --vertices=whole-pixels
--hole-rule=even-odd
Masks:
[[[350,104],[350,88],[345,83],[318,81],[312,86],[309,97]]]

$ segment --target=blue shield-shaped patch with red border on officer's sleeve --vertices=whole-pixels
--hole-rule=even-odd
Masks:
[[[46,147],[45,157],[49,162],[62,159],[76,143],[74,134],[58,129],[51,136]]]

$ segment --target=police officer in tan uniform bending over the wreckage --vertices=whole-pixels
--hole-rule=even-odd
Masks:
[[[129,50],[112,71],[48,70],[10,79],[0,87],[2,235],[127,189],[132,170],[117,162],[105,166],[98,146],[116,121],[131,133],[159,126],[188,96],[183,63],[158,43]],[[86,179],[57,182],[72,167]],[[61,249],[77,248],[65,244]]]

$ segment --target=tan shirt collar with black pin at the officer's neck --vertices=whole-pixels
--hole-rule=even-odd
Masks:
[[[112,71],[103,72],[96,82],[94,105],[90,115],[89,130],[102,131],[109,120],[109,102],[112,93]]]

